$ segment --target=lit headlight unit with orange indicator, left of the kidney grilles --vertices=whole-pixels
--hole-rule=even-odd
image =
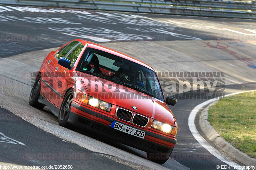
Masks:
[[[85,104],[88,104],[88,105],[91,105],[93,107],[100,108],[100,109],[105,110],[107,112],[110,112],[111,106],[112,106],[110,103],[108,103],[106,101],[102,101],[102,100],[96,99],[96,98],[88,96],[86,94],[83,94],[78,99],[78,101],[81,101],[81,102],[83,102]]]

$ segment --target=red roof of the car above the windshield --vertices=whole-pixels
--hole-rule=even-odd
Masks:
[[[79,40],[80,40],[80,39],[77,39],[76,41],[79,41]],[[105,51],[105,52],[110,53],[110,54],[113,54],[113,55],[117,55],[117,56],[119,56],[119,57],[122,57],[122,58],[124,58],[124,59],[130,60],[130,61],[132,61],[132,62],[134,62],[134,63],[138,63],[138,64],[140,64],[140,65],[142,65],[142,66],[147,67],[147,68],[150,69],[150,70],[155,71],[155,70],[154,70],[152,67],[150,67],[148,64],[143,63],[142,61],[140,61],[140,60],[138,60],[138,59],[136,59],[136,58],[134,58],[134,57],[131,57],[131,56],[127,55],[127,54],[121,53],[121,52],[119,52],[119,51],[116,51],[116,50],[114,50],[114,49],[111,49],[111,48],[102,46],[102,45],[100,45],[100,44],[97,44],[97,43],[94,43],[94,42],[91,42],[91,41],[86,41],[86,40],[82,40],[82,41],[84,41],[85,43],[87,43],[87,45],[88,45],[87,47],[89,47],[89,48],[94,48],[94,49],[98,49],[98,50],[101,50],[101,51]],[[81,42],[81,40],[80,40],[80,42]]]

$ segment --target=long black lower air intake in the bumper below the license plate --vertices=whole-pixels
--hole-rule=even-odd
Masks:
[[[104,126],[104,125],[100,125],[98,123],[92,122],[91,128],[95,129],[95,130],[99,130],[101,132],[104,132],[105,134],[108,134],[110,136],[117,137],[121,140],[124,140],[125,142],[129,142],[129,143],[137,145],[137,146],[141,146],[141,147],[144,147],[144,148],[147,148],[147,149],[150,149],[150,150],[155,150],[156,149],[156,144],[152,144],[150,142],[147,142],[144,139],[132,136],[130,134],[127,134],[127,133],[124,133],[122,131],[110,128],[108,126]]]

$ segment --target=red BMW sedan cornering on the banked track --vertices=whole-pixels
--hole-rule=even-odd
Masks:
[[[149,65],[99,44],[74,40],[50,52],[37,71],[29,104],[48,106],[59,124],[70,124],[147,152],[165,163],[178,131]]]

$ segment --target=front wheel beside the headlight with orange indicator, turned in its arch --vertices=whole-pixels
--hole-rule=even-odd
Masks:
[[[64,99],[60,106],[60,112],[59,112],[59,116],[58,116],[58,122],[59,122],[60,126],[63,126],[65,128],[70,127],[70,124],[68,123],[68,117],[70,114],[70,109],[71,109],[72,103],[73,103],[73,90],[70,89],[64,96]]]

